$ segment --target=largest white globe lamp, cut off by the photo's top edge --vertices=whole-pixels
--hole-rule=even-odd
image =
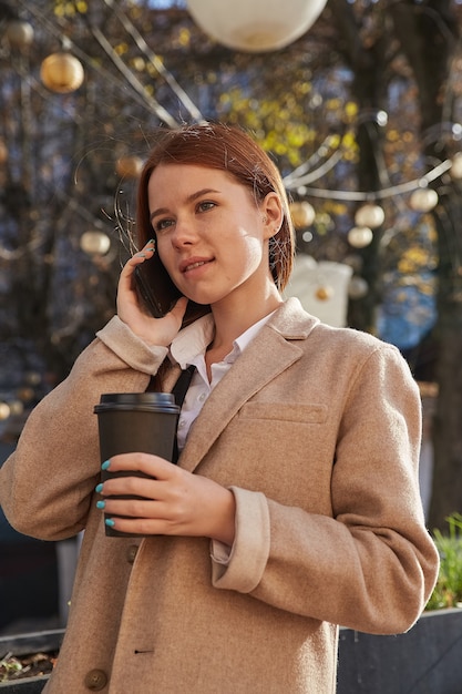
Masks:
[[[194,21],[212,39],[235,51],[276,51],[315,23],[327,0],[187,0]]]

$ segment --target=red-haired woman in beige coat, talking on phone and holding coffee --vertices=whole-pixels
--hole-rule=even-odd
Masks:
[[[332,693],[337,625],[405,631],[437,579],[418,388],[394,347],[283,299],[287,200],[248,135],[167,132],[138,190],[144,249],[121,273],[117,316],[31,414],[1,470],[20,531],[85,530],[45,691]],[[134,285],[153,253],[184,295],[163,318]],[[187,299],[212,313],[179,330]],[[100,395],[143,391],[152,375],[170,391],[189,365],[178,465],[116,456],[104,467],[152,479],[101,484]],[[133,492],[145,500],[107,499]],[[102,509],[145,538],[105,537]]]

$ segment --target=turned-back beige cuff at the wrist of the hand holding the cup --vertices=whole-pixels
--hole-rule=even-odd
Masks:
[[[236,499],[236,537],[233,548],[212,548],[214,588],[250,593],[261,581],[269,557],[269,510],[260,492],[230,487]],[[228,555],[226,555],[228,553]]]

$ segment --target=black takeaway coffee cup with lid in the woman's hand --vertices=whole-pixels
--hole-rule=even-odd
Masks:
[[[97,415],[101,462],[119,453],[154,453],[172,460],[179,407],[170,392],[109,392],[94,407]],[[104,470],[101,481],[114,477],[148,477],[141,471],[111,472]],[[110,499],[111,497],[107,497]],[[141,497],[114,497],[140,499]],[[106,517],[106,514],[104,516]],[[116,518],[116,517],[114,517]],[[138,537],[105,525],[110,537]]]

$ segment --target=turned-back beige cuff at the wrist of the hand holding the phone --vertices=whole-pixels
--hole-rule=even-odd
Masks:
[[[96,337],[131,368],[143,374],[155,374],[168,353],[167,347],[146,345],[119,316],[113,316]]]

